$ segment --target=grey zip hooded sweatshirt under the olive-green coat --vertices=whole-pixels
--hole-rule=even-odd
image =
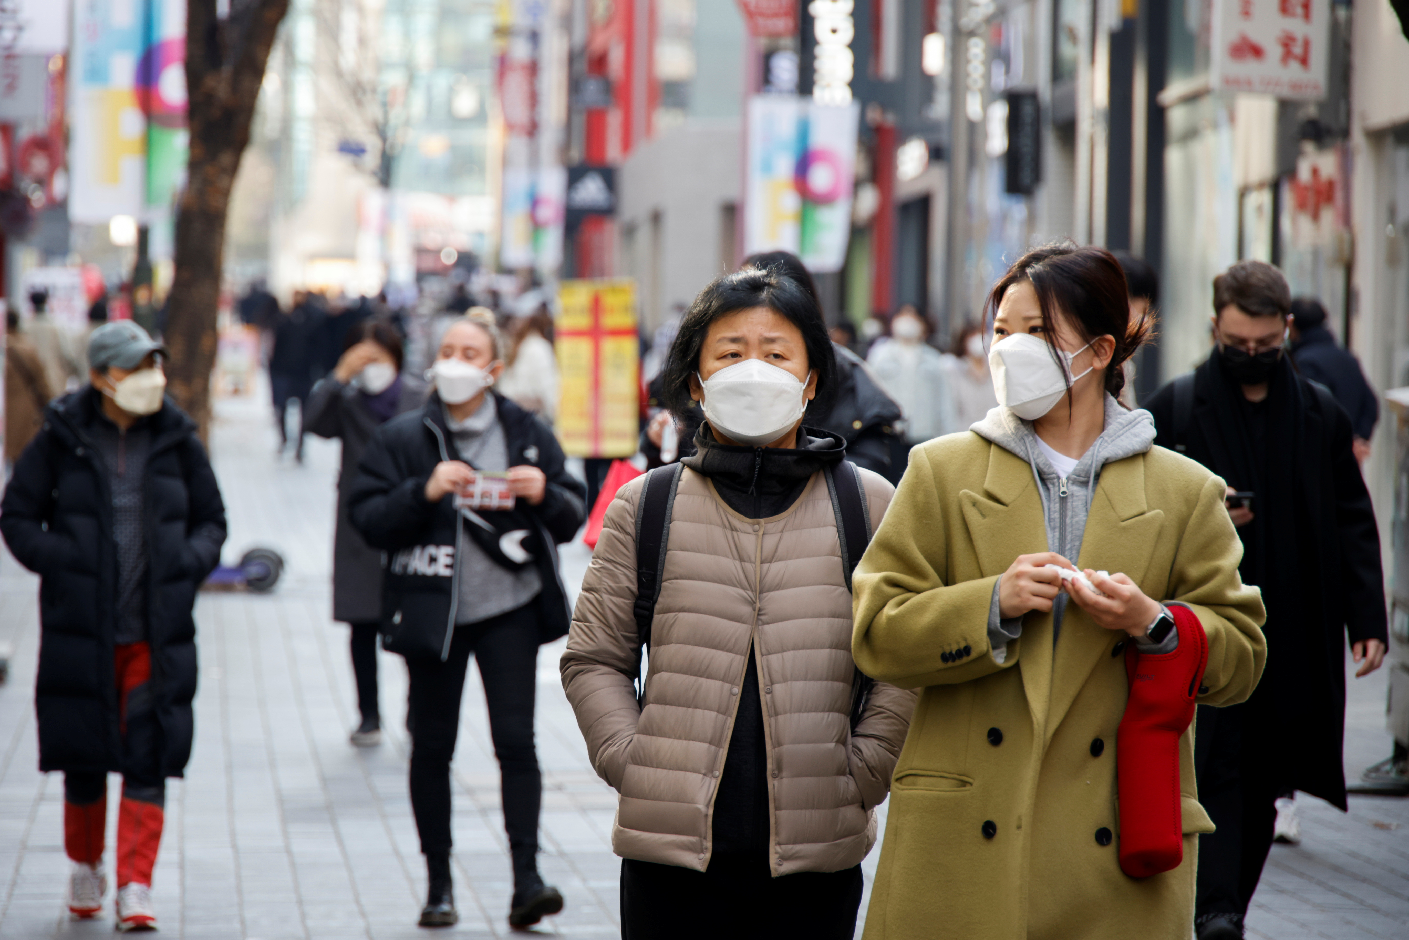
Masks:
[[[1047,516],[1047,545],[1061,557],[1076,564],[1081,555],[1081,540],[1086,531],[1086,516],[1091,513],[1091,497],[1100,481],[1106,464],[1123,461],[1136,454],[1144,454],[1154,445],[1154,419],[1150,412],[1127,412],[1116,399],[1106,396],[1106,430],[1076,462],[1069,476],[1058,476],[1055,468],[1037,447],[1033,423],[1013,414],[1002,404],[969,427],[979,437],[998,444],[1005,451],[1027,461],[1037,481],[1037,492],[1043,497]],[[993,658],[1003,662],[1007,658],[1007,644],[1023,633],[1023,619],[1003,620],[998,613],[998,592],[1002,578],[993,585],[993,603],[988,613],[988,638]],[[1061,636],[1061,621],[1067,612],[1065,592],[1053,603],[1053,643]],[[1169,653],[1179,641],[1177,630],[1171,630],[1164,643],[1151,645],[1147,653]]]

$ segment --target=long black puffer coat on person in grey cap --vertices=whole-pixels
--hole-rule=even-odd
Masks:
[[[113,497],[90,430],[106,421],[85,388],[45,412],[0,502],[0,533],[39,575],[41,771],[120,771],[113,636],[117,548]],[[144,419],[152,434],[144,479],[147,631],[161,723],[162,772],[190,757],[196,695],[196,589],[220,561],[225,505],[194,423],[170,399]]]

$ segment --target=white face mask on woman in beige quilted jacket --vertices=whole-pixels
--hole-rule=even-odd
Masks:
[[[772,444],[807,410],[807,383],[762,359],[726,366],[700,386],[710,427],[744,447]]]

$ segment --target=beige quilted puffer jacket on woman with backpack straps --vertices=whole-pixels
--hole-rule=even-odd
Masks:
[[[892,488],[861,471],[872,527]],[[786,512],[745,519],[683,469],[638,709],[635,507],[607,510],[562,654],[562,684],[592,765],[620,795],[612,847],[703,871],[750,641],[758,658],[775,877],[841,871],[875,843],[916,696],[878,685],[852,734],[851,593],[823,474]]]

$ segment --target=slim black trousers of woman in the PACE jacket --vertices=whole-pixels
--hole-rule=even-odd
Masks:
[[[499,760],[504,830],[516,854],[538,850],[542,777],[533,740],[534,686],[538,672],[538,623],[534,605],[455,627],[449,658],[407,657],[411,679],[411,813],[421,851],[451,850],[449,761],[459,733],[459,702],[471,654],[479,661],[489,705],[489,736]]]

